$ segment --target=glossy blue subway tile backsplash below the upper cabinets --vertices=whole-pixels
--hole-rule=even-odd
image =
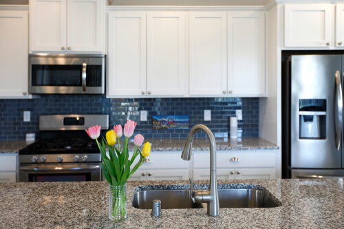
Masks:
[[[146,138],[185,138],[189,130],[153,130],[153,115],[189,115],[189,128],[202,123],[214,133],[228,132],[228,117],[241,109],[238,130],[243,136],[258,136],[258,98],[147,98],[107,99],[105,95],[41,95],[37,99],[0,99],[0,141],[24,140],[28,132],[39,132],[39,115],[107,114],[110,126],[124,125],[127,119],[138,123],[136,133]],[[31,121],[23,121],[30,110]],[[140,110],[147,110],[147,121],[140,121]],[[211,110],[211,121],[204,121],[204,110]],[[229,136],[229,134],[228,134]],[[197,132],[195,137],[205,137]]]

